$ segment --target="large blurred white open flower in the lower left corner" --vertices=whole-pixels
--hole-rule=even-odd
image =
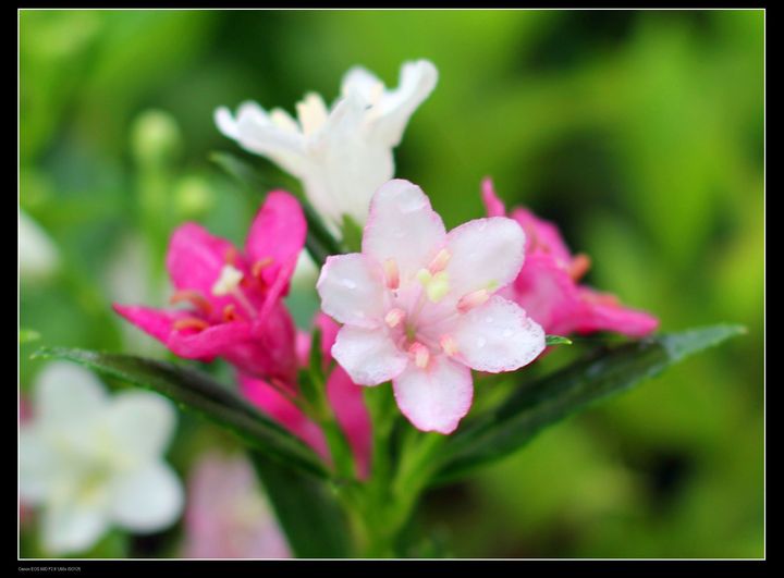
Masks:
[[[111,525],[150,532],[176,520],[183,490],[162,459],[174,426],[157,394],[110,397],[86,369],[48,365],[20,430],[20,497],[41,508],[45,549],[81,552]]]

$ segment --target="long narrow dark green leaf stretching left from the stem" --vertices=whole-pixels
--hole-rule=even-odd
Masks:
[[[182,408],[233,431],[272,459],[327,477],[327,469],[313,450],[200,371],[156,359],[63,347],[39,349],[34,357],[68,359],[134,385],[155,390]]]

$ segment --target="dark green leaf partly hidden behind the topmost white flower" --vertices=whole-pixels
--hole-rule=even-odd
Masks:
[[[254,193],[266,194],[277,186],[275,183],[261,176],[259,171],[250,164],[230,152],[212,152],[210,160],[223,169],[229,175],[233,176],[241,185]],[[328,256],[339,255],[343,253],[343,250],[323,224],[321,217],[314,210],[307,199],[299,198],[299,202],[302,204],[305,220],[308,225],[305,248],[310,254],[310,257],[313,257],[316,266],[320,268]]]

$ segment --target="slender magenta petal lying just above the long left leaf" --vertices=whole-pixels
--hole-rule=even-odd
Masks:
[[[297,406],[266,381],[241,373],[240,388],[250,402],[294,435],[302,439],[322,457],[327,457],[327,442],[319,427]]]

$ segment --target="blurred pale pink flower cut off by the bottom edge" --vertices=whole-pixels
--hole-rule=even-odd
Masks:
[[[289,545],[242,455],[209,453],[188,480],[183,556],[287,558]]]

